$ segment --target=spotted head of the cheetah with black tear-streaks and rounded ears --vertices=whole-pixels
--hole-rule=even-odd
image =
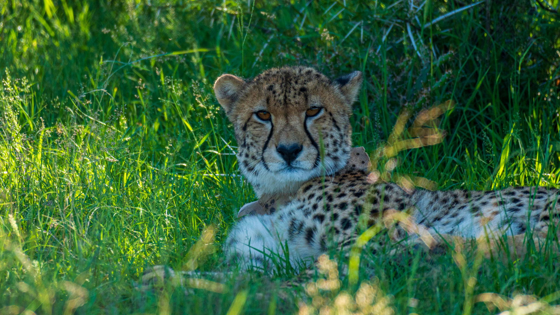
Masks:
[[[361,85],[360,71],[330,81],[306,67],[216,80],[214,93],[235,128],[239,168],[256,194],[289,194],[346,165]]]

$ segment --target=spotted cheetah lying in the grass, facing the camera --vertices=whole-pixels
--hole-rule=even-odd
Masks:
[[[282,257],[292,265],[314,261],[329,246],[352,246],[361,217],[372,226],[390,210],[407,211],[433,236],[516,236],[529,228],[546,236],[558,223],[557,189],[405,190],[372,184],[367,172],[340,172],[351,152],[350,117],[361,86],[360,71],[332,81],[309,67],[216,80],[214,93],[234,125],[241,173],[259,197],[293,196],[274,213],[241,218],[225,242],[228,261],[265,268],[270,253],[288,255]],[[396,239],[407,234],[394,231]]]

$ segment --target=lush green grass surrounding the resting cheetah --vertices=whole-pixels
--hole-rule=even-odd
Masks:
[[[213,97],[222,73],[362,70],[353,139],[368,152],[403,109],[454,100],[439,121],[444,141],[400,152],[395,172],[438,189],[560,187],[560,16],[529,0],[492,0],[422,27],[472,3],[0,1],[0,314],[293,314],[311,305],[301,286],[286,288],[293,270],[232,275],[221,293],[137,289],[156,264],[223,270],[220,245],[254,200]],[[190,251],[208,227],[212,245]],[[368,280],[397,314],[482,314],[484,303],[470,305],[486,292],[558,304],[558,257],[528,246],[515,261],[363,250],[356,285],[330,254],[342,289]],[[463,254],[466,265],[456,264]],[[321,292],[327,304],[338,294]]]

